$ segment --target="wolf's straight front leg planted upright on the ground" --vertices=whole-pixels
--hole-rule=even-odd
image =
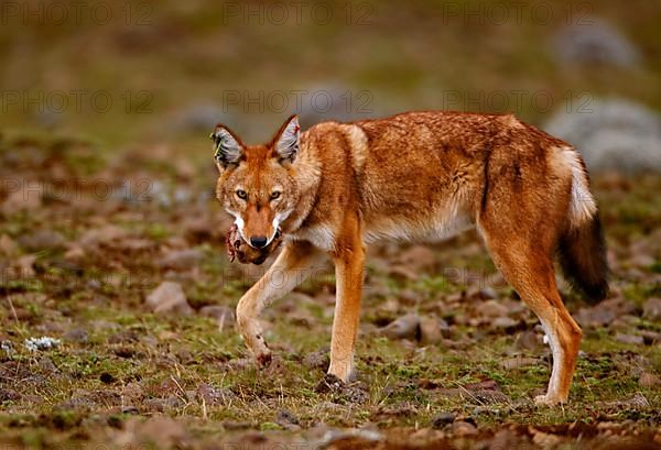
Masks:
[[[360,318],[365,246],[359,219],[350,219],[334,252],[336,300],[328,373],[347,382],[354,372],[354,347]]]

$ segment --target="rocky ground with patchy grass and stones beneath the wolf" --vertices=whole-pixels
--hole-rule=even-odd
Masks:
[[[21,138],[0,158],[4,443],[661,448],[659,176],[595,179],[613,293],[563,287],[585,339],[551,409],[538,320],[474,233],[370,249],[359,375],[336,386],[326,266],[264,315],[271,366],[248,359],[234,307],[264,268],[228,262],[209,158]]]

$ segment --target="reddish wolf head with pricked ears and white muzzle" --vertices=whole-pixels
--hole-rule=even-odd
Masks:
[[[292,116],[266,145],[246,145],[223,124],[212,134],[220,173],[216,196],[235,217],[241,238],[254,249],[273,241],[299,201],[293,163],[300,131],[299,118]]]

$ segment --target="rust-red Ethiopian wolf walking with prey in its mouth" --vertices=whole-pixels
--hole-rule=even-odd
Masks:
[[[567,400],[581,328],[565,309],[553,259],[593,300],[608,290],[604,238],[585,165],[572,145],[513,116],[407,112],[301,132],[293,116],[266,145],[214,133],[217,197],[251,248],[282,234],[284,248],[237,307],[259,364],[271,359],[258,316],[325,257],[337,299],[328,373],[354,370],[365,245],[380,239],[438,240],[477,228],[508,283],[550,339],[553,371],[537,403]],[[284,276],[282,276],[284,274]],[[286,275],[291,276],[286,276]]]

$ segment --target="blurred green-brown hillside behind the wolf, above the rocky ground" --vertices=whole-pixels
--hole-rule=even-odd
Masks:
[[[1,13],[9,133],[202,149],[201,130],[177,120],[215,106],[218,121],[263,140],[301,109],[297,90],[310,103],[327,87],[345,92],[350,117],[457,109],[541,123],[600,96],[661,109],[654,1],[25,1]],[[557,33],[593,22],[617,30],[638,62],[561,61]]]

